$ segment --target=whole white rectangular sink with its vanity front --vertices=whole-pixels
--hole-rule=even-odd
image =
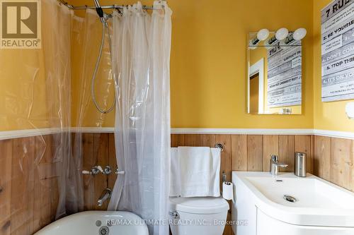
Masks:
[[[244,219],[249,222],[248,228],[239,227],[240,235],[267,234],[256,233],[256,227],[259,228],[263,222],[269,227],[272,224],[271,219],[274,220],[275,227],[278,227],[278,222],[304,228],[337,227],[343,230],[346,227],[348,229],[344,229],[345,231],[354,234],[354,193],[333,183],[311,174],[306,178],[297,177],[293,173],[282,173],[273,177],[269,172],[241,171],[232,173],[232,182],[236,200],[233,219]],[[295,201],[285,200],[285,195],[292,196]],[[270,219],[262,220],[268,217]],[[251,227],[254,227],[252,231],[249,230]],[[306,232],[302,231],[299,234],[306,234]],[[316,233],[312,230],[309,234]],[[326,234],[326,232],[321,230],[319,234]]]

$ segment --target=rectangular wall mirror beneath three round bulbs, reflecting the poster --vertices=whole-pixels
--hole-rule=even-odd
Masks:
[[[260,41],[249,33],[249,114],[302,113],[302,44],[289,35],[279,41],[270,32]]]

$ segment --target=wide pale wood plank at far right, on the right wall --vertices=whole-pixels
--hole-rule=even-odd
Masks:
[[[331,138],[331,181],[351,190],[353,171],[353,140]]]

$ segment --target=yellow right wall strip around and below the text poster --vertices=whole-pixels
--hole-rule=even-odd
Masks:
[[[321,9],[330,2],[314,1],[314,128],[353,132],[354,121],[348,119],[345,112],[346,103],[350,101],[321,102]]]

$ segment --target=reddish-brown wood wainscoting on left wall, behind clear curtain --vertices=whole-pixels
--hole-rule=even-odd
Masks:
[[[55,135],[0,140],[0,234],[33,234],[55,220]]]

